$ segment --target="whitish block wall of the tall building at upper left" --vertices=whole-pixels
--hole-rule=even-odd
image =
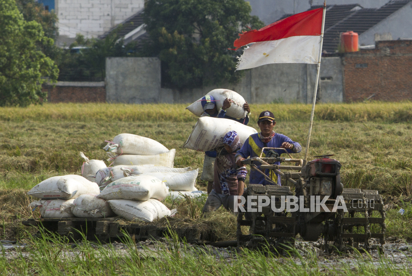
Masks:
[[[144,0],[56,0],[61,40],[97,37],[144,7]]]

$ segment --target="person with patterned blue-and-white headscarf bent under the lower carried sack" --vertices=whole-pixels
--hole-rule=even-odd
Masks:
[[[223,147],[216,150],[213,189],[203,207],[204,213],[215,211],[222,205],[227,210],[237,211],[233,210],[235,196],[243,195],[247,175],[245,166],[236,165],[235,155],[241,147],[242,143],[235,131],[230,131],[223,137]]]

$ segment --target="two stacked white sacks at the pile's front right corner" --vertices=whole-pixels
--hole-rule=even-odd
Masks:
[[[137,175],[110,183],[98,197],[107,200],[119,216],[151,222],[171,215],[171,211],[160,202],[168,194],[169,188],[160,179]]]

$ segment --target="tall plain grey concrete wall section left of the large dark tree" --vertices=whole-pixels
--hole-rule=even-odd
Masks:
[[[161,88],[157,58],[106,58],[106,100],[156,103]]]

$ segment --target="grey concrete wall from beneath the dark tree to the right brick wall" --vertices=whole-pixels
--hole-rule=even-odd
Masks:
[[[245,70],[238,84],[222,84],[197,89],[161,89],[161,102],[190,103],[212,89],[227,88],[241,94],[249,103],[312,103],[316,65],[271,64]],[[318,101],[343,102],[341,58],[323,58]],[[163,101],[164,100],[164,101]]]

